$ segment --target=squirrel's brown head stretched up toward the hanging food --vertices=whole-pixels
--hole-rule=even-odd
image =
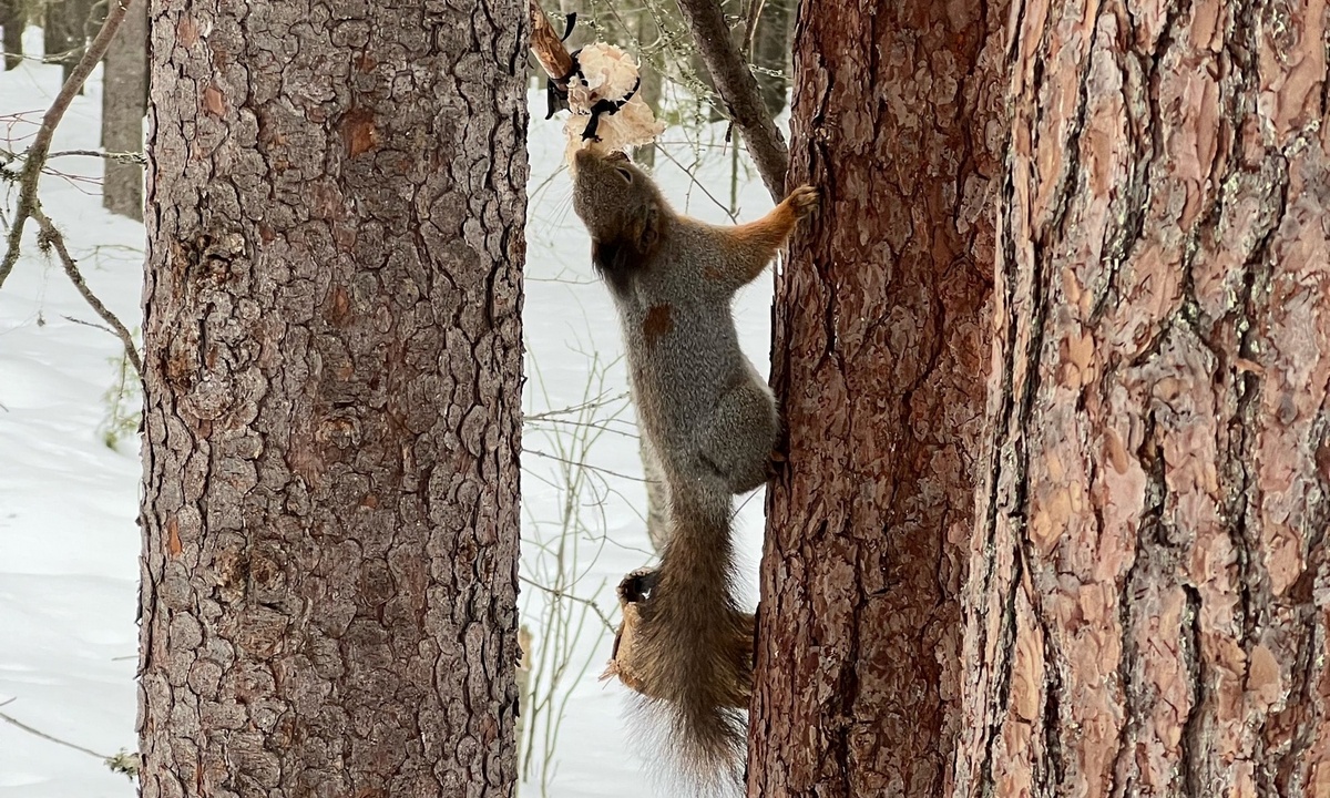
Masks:
[[[656,184],[624,153],[573,156],[573,210],[605,271],[641,266],[656,251],[669,209]]]

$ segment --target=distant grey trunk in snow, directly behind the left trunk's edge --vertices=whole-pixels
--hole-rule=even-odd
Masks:
[[[101,146],[125,153],[144,149],[148,110],[148,3],[130,0],[106,57],[102,59]],[[144,218],[144,170],[137,164],[104,161],[102,206],[138,221]]]

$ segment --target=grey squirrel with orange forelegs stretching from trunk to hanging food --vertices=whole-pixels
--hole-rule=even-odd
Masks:
[[[685,774],[724,789],[743,781],[753,680],[753,614],[732,585],[733,496],[769,479],[779,434],[730,302],[817,209],[818,192],[801,186],[755,222],[717,226],[674,213],[624,153],[583,149],[572,166],[573,210],[618,310],[648,468],[669,501],[660,565],[633,580],[642,600],[633,674],[621,678],[666,709]]]

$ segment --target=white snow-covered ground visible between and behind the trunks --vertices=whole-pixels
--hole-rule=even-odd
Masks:
[[[39,52],[40,31],[29,28],[29,51]],[[59,66],[35,61],[0,73],[0,148],[21,150],[59,90]],[[528,414],[568,408],[588,396],[621,396],[626,390],[618,327],[609,298],[592,270],[585,230],[571,211],[571,186],[563,169],[563,117],[543,121],[544,94],[532,92],[531,184],[527,265]],[[98,146],[100,76],[70,106],[56,134],[55,150]],[[698,145],[698,136],[702,144]],[[670,158],[660,160],[657,178],[677,207],[725,221],[713,200],[728,201],[730,157],[722,129],[685,134],[669,130],[662,141]],[[698,164],[698,154],[702,162]],[[680,166],[694,173],[692,184]],[[53,162],[64,176],[43,178],[47,213],[69,238],[89,286],[137,329],[144,229],[101,207],[96,158]],[[705,186],[705,189],[702,188]],[[751,219],[770,207],[759,181],[739,176],[739,217]],[[12,186],[0,185],[0,233],[12,218]],[[31,230],[29,225],[29,230]],[[3,241],[0,241],[3,246]],[[770,277],[739,294],[735,315],[749,356],[766,368],[770,331]],[[0,712],[52,737],[100,754],[133,750],[137,626],[136,515],[140,463],[137,439],[118,450],[105,443],[118,382],[120,344],[86,326],[96,315],[69,285],[57,263],[41,255],[28,235],[24,255],[0,287]],[[598,366],[597,366],[598,364]],[[620,422],[606,420],[618,414]],[[523,573],[614,609],[613,587],[650,559],[642,512],[637,442],[632,411],[622,400],[596,411],[596,427],[561,422],[528,426],[524,447],[536,454],[523,468]],[[588,420],[583,418],[583,420]],[[595,440],[579,432],[604,428]],[[561,460],[584,459],[575,524],[565,524],[568,479]],[[745,572],[755,583],[761,540],[759,496],[746,499],[738,519]],[[561,559],[561,531],[572,529]],[[750,595],[755,588],[750,587]],[[545,673],[565,660],[555,709],[557,734],[537,725],[533,761],[553,763],[548,795],[650,795],[637,747],[622,720],[624,688],[600,682],[610,637],[595,614],[580,634],[580,604],[572,617],[549,620],[549,595],[523,585],[524,622],[535,636],[535,660]],[[750,597],[751,602],[751,597]],[[617,618],[616,618],[617,620]],[[567,630],[572,629],[572,632]],[[557,656],[556,656],[557,654]],[[521,793],[541,793],[536,778]],[[0,793],[13,798],[129,797],[132,782],[96,757],[0,722]]]

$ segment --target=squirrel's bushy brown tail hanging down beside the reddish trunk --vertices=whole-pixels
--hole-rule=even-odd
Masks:
[[[704,793],[733,793],[743,779],[753,616],[732,591],[730,495],[712,487],[670,485],[670,537],[642,606],[640,661],[684,775]]]

